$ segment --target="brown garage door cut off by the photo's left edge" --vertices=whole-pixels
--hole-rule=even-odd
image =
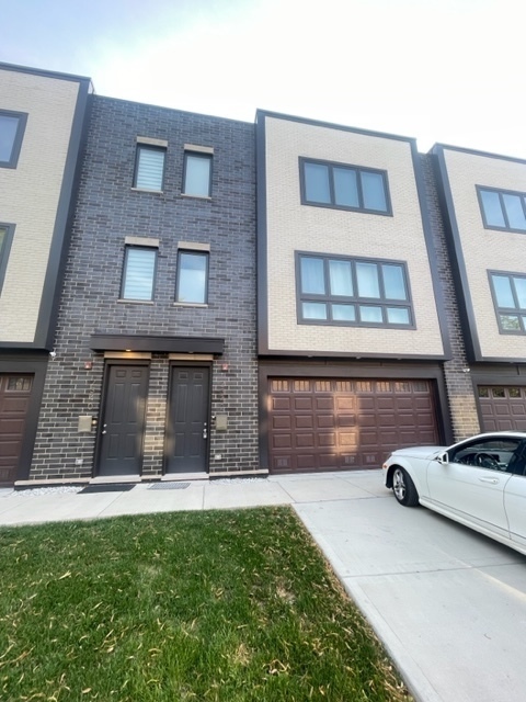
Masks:
[[[0,485],[16,479],[32,383],[31,375],[0,375]]]

